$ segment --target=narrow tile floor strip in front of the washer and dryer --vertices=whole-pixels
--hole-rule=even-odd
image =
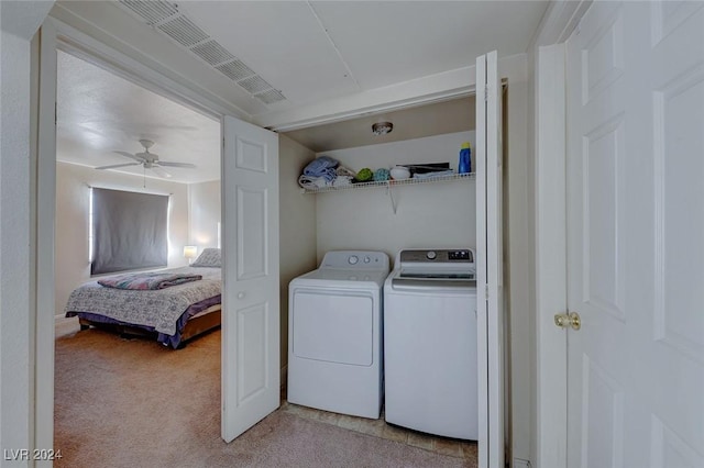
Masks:
[[[346,414],[331,413],[328,411],[316,410],[312,408],[288,403],[286,401],[286,397],[282,397],[283,403],[280,410],[297,414],[301,417],[320,421],[327,424],[333,424],[340,427],[348,428],[350,431],[373,435],[375,437],[402,442],[404,444],[424,448],[437,454],[449,455],[458,458],[466,458],[474,461],[476,461],[477,459],[476,442],[432,436],[429,434],[424,434],[420,432],[391,425],[387,424],[386,421],[384,421],[383,414],[378,420],[349,416]]]

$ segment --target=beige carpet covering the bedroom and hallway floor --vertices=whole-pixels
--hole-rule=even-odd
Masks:
[[[220,332],[174,352],[90,330],[56,341],[57,467],[460,467],[466,459],[275,411],[220,438]]]

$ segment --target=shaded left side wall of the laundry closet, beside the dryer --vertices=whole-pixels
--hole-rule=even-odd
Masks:
[[[316,268],[316,198],[304,196],[298,176],[316,155],[285,135],[278,140],[280,363],[288,364],[288,283]]]

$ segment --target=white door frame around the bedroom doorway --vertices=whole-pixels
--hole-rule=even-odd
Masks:
[[[222,121],[226,114],[232,115],[232,109],[222,107],[197,91],[174,81],[128,55],[116,51],[105,43],[78,31],[52,16],[47,16],[40,30],[40,74],[38,74],[38,113],[37,129],[37,183],[34,188],[34,208],[36,209],[36,320],[34,322],[36,341],[34,349],[35,394],[33,401],[34,446],[54,446],[54,338],[55,338],[55,233],[56,207],[56,52],[62,51],[85,59],[117,76],[125,78],[150,91],[156,92],[193,109],[201,114]],[[48,111],[46,111],[48,109]],[[241,116],[241,115],[238,115]],[[223,135],[221,135],[222,137]],[[222,178],[223,179],[223,178]],[[221,180],[222,180],[221,179]],[[51,383],[42,383],[48,381]],[[38,465],[50,466],[51,461]]]

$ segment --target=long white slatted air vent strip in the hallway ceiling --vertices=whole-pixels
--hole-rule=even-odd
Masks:
[[[119,1],[132,14],[180,44],[263,103],[272,104],[286,100],[279,90],[180,13],[176,3],[162,0]]]

